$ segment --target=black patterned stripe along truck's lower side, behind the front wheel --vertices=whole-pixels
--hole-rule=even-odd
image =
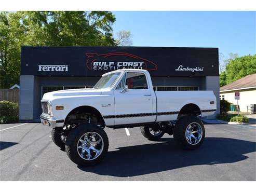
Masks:
[[[216,109],[207,109],[202,110],[201,112],[215,112]],[[136,113],[136,114],[124,114],[124,115],[106,115],[103,116],[104,119],[110,119],[110,118],[126,118],[126,117],[144,117],[144,116],[152,116],[152,115],[175,115],[179,114],[179,112],[159,112],[159,113]]]

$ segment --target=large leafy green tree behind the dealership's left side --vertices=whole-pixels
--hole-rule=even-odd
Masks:
[[[0,87],[19,84],[21,46],[115,46],[110,11],[0,12]]]

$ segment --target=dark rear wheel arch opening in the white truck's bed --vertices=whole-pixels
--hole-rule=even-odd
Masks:
[[[180,109],[177,119],[183,116],[201,116],[201,114],[201,109],[198,105],[187,103]]]

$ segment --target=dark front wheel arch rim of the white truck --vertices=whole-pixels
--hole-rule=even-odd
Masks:
[[[92,107],[92,106],[89,106],[89,105],[82,105],[82,106],[77,106],[77,107],[73,108],[73,109],[68,113],[68,115],[65,117],[64,125],[65,125],[65,123],[67,122],[68,117],[69,117],[71,114],[75,113],[75,112],[87,112],[87,113],[95,114],[95,115],[99,118],[99,121],[101,122],[101,124],[105,126],[104,118],[103,118],[103,116],[101,115],[101,113],[99,112],[99,110],[98,110],[97,108]]]

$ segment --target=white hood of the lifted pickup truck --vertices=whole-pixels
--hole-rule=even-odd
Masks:
[[[105,89],[67,89],[45,93],[42,100],[53,100],[64,97],[81,97],[86,95],[102,95]]]

